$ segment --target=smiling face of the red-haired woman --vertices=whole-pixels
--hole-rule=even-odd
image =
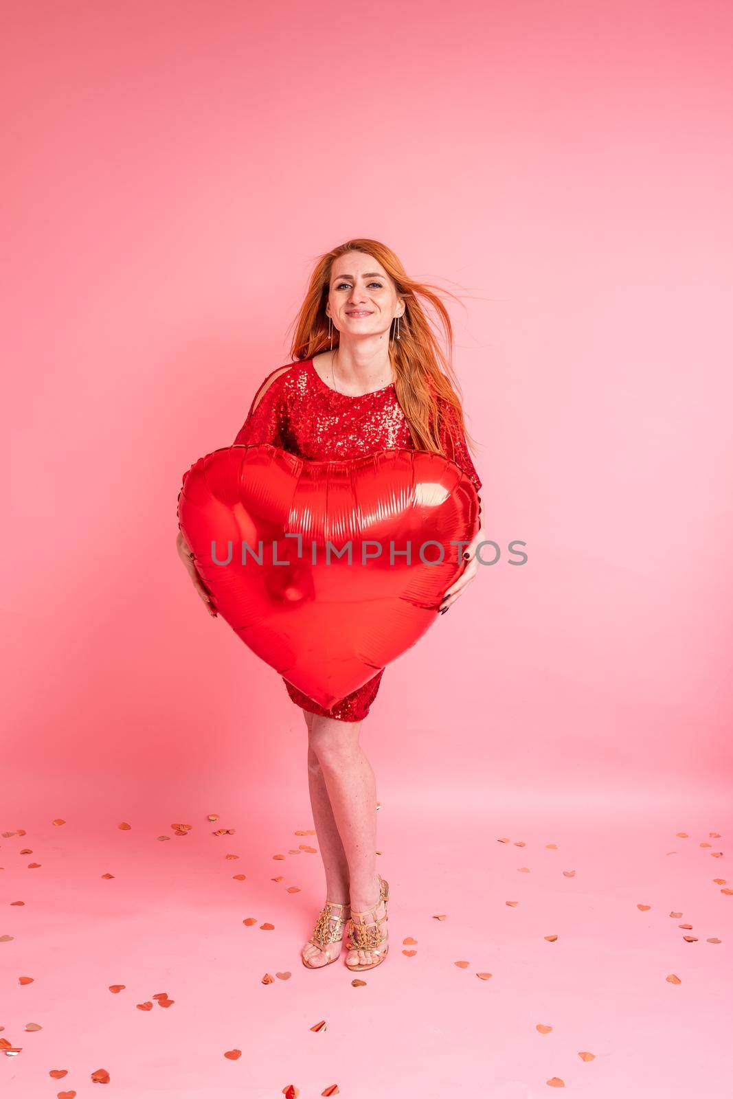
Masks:
[[[387,333],[395,317],[404,312],[395,284],[366,252],[337,256],[331,269],[326,314],[346,336]]]

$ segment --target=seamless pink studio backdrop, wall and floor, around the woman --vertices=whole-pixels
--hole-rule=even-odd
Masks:
[[[0,1081],[722,1096],[733,899],[701,859],[731,818],[733,12],[5,11],[0,831],[27,831],[0,839],[0,1039],[23,1046]],[[271,861],[313,842],[302,713],[174,545],[182,474],[233,441],[315,257],[356,235],[465,295],[489,536],[529,554],[479,568],[364,723],[393,943],[364,989],[300,965],[320,858]]]

